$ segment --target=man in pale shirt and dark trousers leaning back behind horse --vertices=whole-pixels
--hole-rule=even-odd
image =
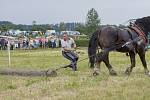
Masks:
[[[62,55],[71,61],[69,67],[71,67],[74,71],[77,71],[77,61],[78,56],[73,51],[76,49],[75,41],[68,37],[67,33],[63,34],[63,39],[61,40],[62,47]]]

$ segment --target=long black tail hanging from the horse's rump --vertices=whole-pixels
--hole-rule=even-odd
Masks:
[[[91,68],[94,67],[96,50],[98,47],[98,34],[99,34],[99,31],[95,31],[89,40],[88,56],[89,56],[89,63],[90,63]]]

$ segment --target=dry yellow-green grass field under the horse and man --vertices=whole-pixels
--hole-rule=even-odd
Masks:
[[[80,48],[80,59],[87,49]],[[8,68],[7,51],[0,51],[0,69]],[[146,54],[148,66],[150,52]],[[46,70],[69,64],[60,49],[11,51],[11,68]],[[19,77],[0,75],[0,100],[150,100],[150,77],[136,57],[136,67],[128,77],[130,65],[125,54],[111,52],[110,62],[118,76],[110,76],[102,63],[101,75],[92,76],[88,60],[78,63],[78,71],[59,70],[57,77]],[[150,69],[150,68],[149,68]]]

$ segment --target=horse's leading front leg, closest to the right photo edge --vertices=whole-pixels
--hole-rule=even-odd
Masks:
[[[150,75],[149,70],[147,68],[146,60],[145,60],[145,51],[139,52],[138,54],[140,56],[140,59],[142,61],[143,66],[144,66],[144,72],[145,72],[145,74],[146,75]]]

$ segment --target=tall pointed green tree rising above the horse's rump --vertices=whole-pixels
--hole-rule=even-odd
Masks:
[[[86,18],[86,34],[90,37],[100,26],[100,18],[97,11],[92,8],[88,11]]]

